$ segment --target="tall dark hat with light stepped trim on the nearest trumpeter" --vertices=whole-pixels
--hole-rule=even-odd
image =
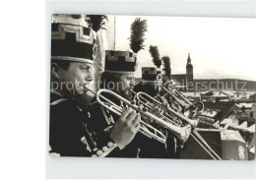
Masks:
[[[51,59],[93,64],[95,41],[84,15],[52,15]]]

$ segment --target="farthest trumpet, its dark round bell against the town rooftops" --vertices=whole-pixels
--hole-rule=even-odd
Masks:
[[[197,101],[192,103],[189,101],[183,93],[181,93],[178,90],[172,89],[174,92],[165,89],[161,86],[161,89],[166,92],[166,94],[169,94],[178,104],[180,104],[183,108],[186,110],[189,110],[188,117],[189,118],[196,118],[198,117],[204,110],[205,105],[202,101]],[[175,95],[175,94],[177,95]]]

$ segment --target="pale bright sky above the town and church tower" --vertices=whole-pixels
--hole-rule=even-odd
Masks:
[[[139,17],[139,16],[137,16]],[[131,50],[133,16],[116,16],[115,50]],[[154,67],[150,45],[160,57],[168,56],[171,74],[185,74],[188,53],[194,79],[241,79],[256,81],[256,21],[237,18],[140,17],[148,21],[145,49],[137,54],[135,76],[141,67]]]

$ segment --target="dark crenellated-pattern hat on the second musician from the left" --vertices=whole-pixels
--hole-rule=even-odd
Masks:
[[[105,72],[134,73],[136,70],[136,54],[129,51],[106,50]]]

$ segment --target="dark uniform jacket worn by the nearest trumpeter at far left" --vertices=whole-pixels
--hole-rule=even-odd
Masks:
[[[50,96],[49,143],[52,152],[61,156],[91,156],[96,145],[88,127],[89,113],[75,99],[59,94]]]

